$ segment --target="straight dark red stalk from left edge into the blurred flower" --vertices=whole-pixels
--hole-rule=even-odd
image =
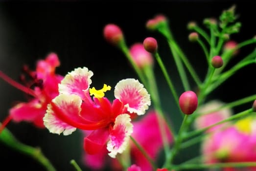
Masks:
[[[24,93],[26,94],[30,94],[31,96],[36,97],[35,93],[33,92],[33,90],[25,87],[24,85],[21,85],[19,83],[17,83],[16,81],[14,81],[13,79],[11,79],[10,77],[8,77],[7,75],[5,75],[2,71],[0,71],[0,78],[2,78],[4,81],[6,81],[7,83],[9,83],[10,85],[16,87],[19,90],[22,90]]]

